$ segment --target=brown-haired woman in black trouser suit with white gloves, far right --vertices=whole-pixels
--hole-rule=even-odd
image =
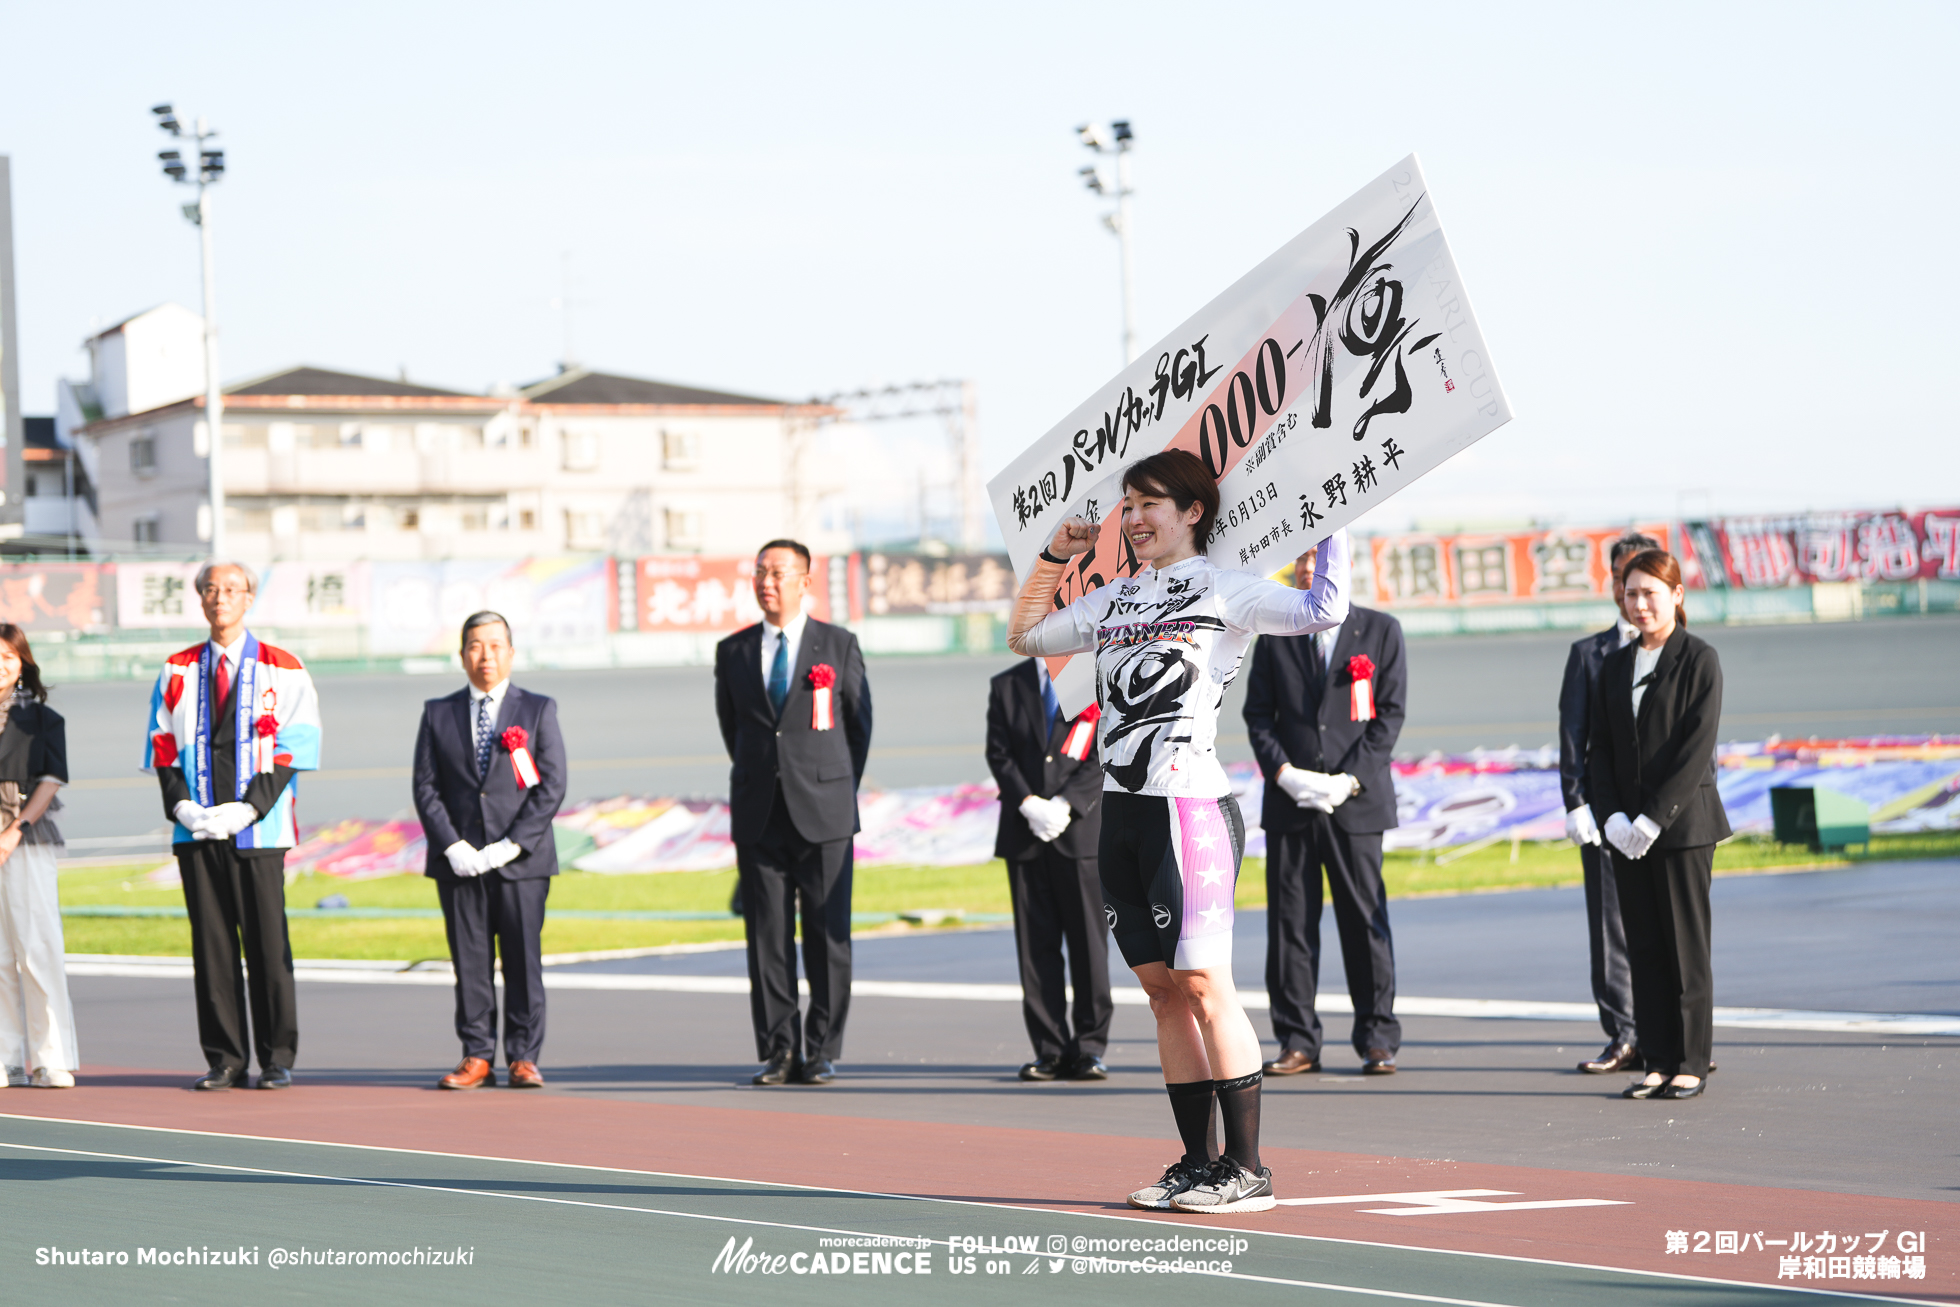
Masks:
[[[1729,815],[1715,790],[1721,660],[1688,635],[1682,568],[1627,560],[1621,607],[1641,637],[1607,654],[1588,747],[1592,809],[1615,858],[1646,1078],[1627,1097],[1695,1097],[1715,1042],[1709,876]]]

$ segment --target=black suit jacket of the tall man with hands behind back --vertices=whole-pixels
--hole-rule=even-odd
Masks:
[[[809,727],[809,668],[819,662],[837,670],[829,731]],[[857,786],[870,756],[870,684],[855,635],[815,617],[804,623],[778,719],[762,690],[762,623],[743,627],[715,645],[715,715],[733,762],[729,833],[737,845],[762,839],[778,782],[804,839],[821,845],[857,835]]]

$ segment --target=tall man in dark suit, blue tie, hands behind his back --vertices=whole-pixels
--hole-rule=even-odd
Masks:
[[[857,637],[804,615],[808,594],[809,551],[762,545],[762,621],[715,645],[759,1086],[829,1084],[851,1007],[851,837],[870,754],[870,686]],[[796,1003],[798,899],[808,1021]]]

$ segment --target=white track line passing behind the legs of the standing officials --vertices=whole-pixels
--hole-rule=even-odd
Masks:
[[[367,986],[441,986],[457,984],[451,972],[404,972],[400,962],[308,962],[294,964],[294,978],[325,984]],[[71,976],[145,976],[155,980],[190,980],[188,958],[116,958],[110,954],[71,954]],[[504,978],[498,976],[498,984]],[[809,984],[798,982],[808,993]],[[747,976],[651,976],[633,972],[564,972],[545,968],[545,990],[625,990],[649,993],[749,993]],[[925,980],[853,980],[851,993],[858,997],[1019,1003],[1021,986],[955,984]],[[1115,986],[1111,997],[1119,1007],[1149,1003],[1143,990]],[[1239,1001],[1252,1011],[1266,1011],[1264,990],[1241,990]],[[1315,999],[1323,1013],[1352,1013],[1345,993],[1321,993]],[[1499,1021],[1584,1021],[1593,1023],[1599,1011],[1592,1003],[1541,1003],[1521,999],[1446,999],[1396,995],[1397,1017],[1474,1017]],[[1938,1013],[1886,1011],[1807,1011],[1788,1007],[1717,1007],[1715,1025],[1733,1031],[1817,1031],[1831,1035],[1954,1035],[1960,1037],[1960,1017]]]

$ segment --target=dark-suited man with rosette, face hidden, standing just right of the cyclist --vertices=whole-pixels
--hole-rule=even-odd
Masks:
[[[1407,696],[1401,623],[1372,607],[1319,635],[1262,635],[1245,725],[1266,774],[1266,993],[1280,1056],[1268,1076],[1321,1070],[1321,868],[1335,899],[1362,1072],[1392,1076],[1396,946],[1382,831],[1396,827],[1390,758]]]

